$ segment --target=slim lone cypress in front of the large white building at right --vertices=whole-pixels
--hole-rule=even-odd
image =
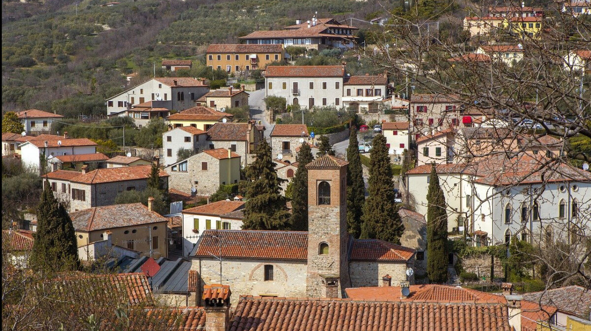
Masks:
[[[447,282],[447,210],[435,165],[427,190],[427,276],[433,283]]]

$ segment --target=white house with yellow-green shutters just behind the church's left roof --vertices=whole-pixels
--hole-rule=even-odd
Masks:
[[[240,230],[242,220],[225,218],[224,214],[244,208],[242,201],[216,201],[199,207],[183,210],[183,255],[187,256],[193,250],[194,244],[199,239],[199,234],[205,230]]]

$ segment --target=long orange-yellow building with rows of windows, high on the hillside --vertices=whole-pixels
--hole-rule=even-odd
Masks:
[[[217,44],[209,45],[206,51],[206,64],[212,69],[226,72],[241,72],[265,69],[271,62],[279,62],[285,57],[280,44]]]

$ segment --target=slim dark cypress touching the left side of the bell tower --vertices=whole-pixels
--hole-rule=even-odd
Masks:
[[[308,230],[308,170],[306,164],[314,160],[307,143],[297,153],[298,167],[291,187],[291,225],[296,231]]]

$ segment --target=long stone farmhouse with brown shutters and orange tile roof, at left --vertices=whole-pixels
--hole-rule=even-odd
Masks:
[[[57,170],[43,176],[57,200],[66,203],[69,211],[109,206],[122,191],[145,190],[152,166],[103,168],[82,173]],[[168,190],[168,174],[160,170],[161,187]]]

